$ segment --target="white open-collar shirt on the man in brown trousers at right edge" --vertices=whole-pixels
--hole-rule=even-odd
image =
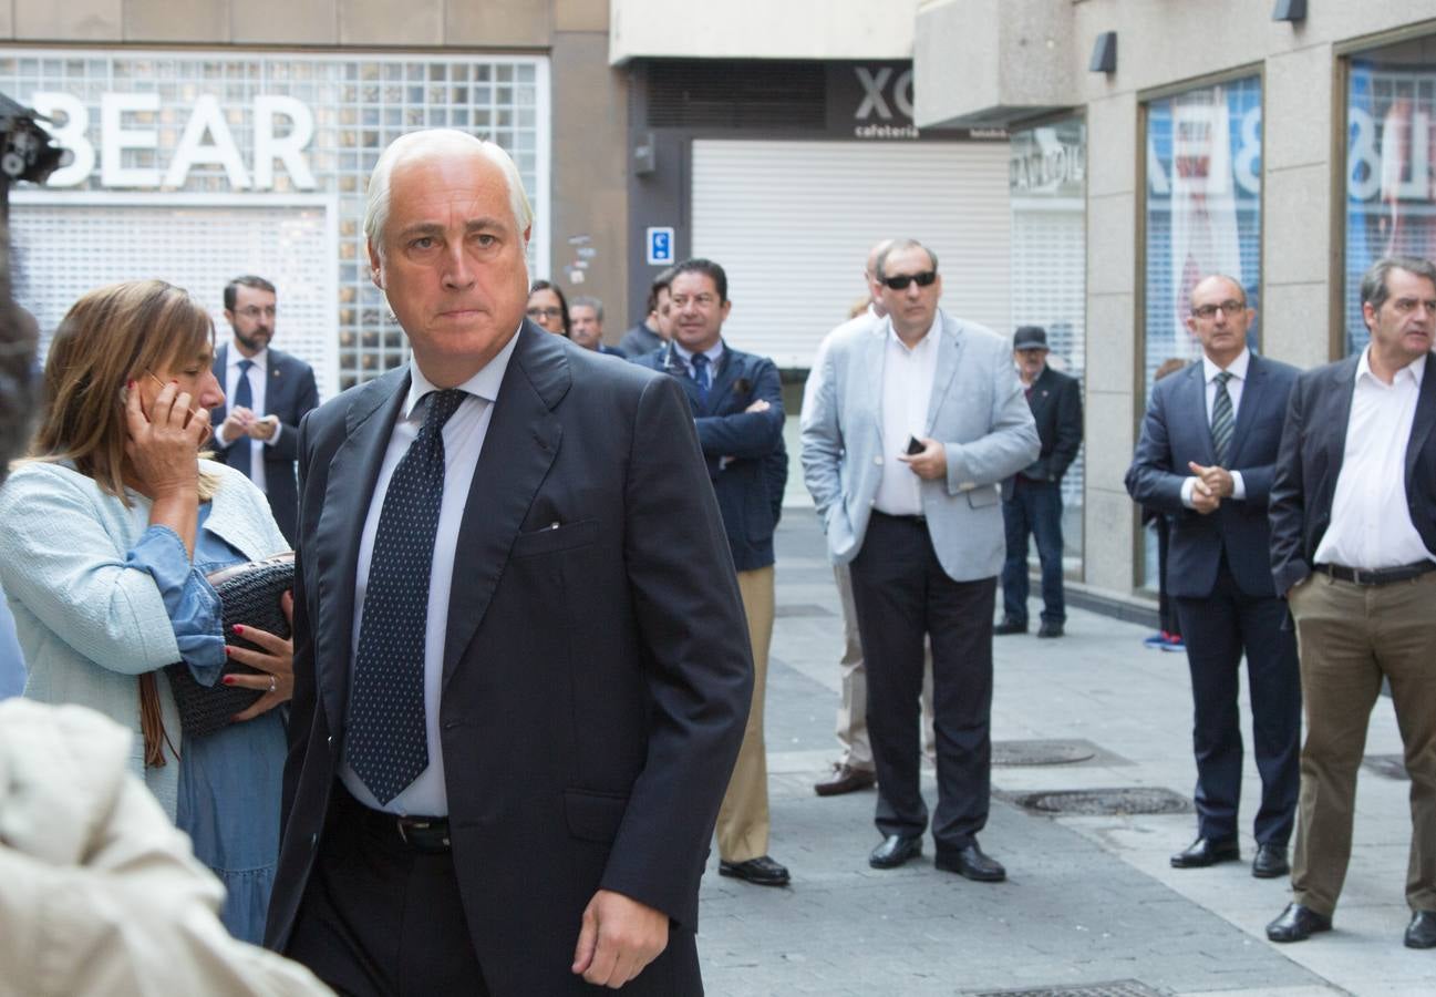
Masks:
[[[1367,346],[1356,366],[1346,453],[1331,496],[1331,526],[1317,544],[1318,565],[1380,570],[1436,560],[1406,504],[1406,447],[1426,356],[1386,384],[1371,374],[1370,353]]]

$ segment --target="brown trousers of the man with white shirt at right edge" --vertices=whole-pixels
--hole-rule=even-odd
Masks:
[[[1436,572],[1361,586],[1313,575],[1292,589],[1307,741],[1292,899],[1330,915],[1351,858],[1356,776],[1381,678],[1412,777],[1406,902],[1436,911]]]

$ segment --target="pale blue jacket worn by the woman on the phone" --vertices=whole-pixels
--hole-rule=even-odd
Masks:
[[[224,464],[204,529],[254,560],[289,549],[264,493]],[[0,487],[0,586],[30,675],[24,694],[90,707],[134,731],[129,767],[175,816],[180,764],[145,769],[138,675],[180,661],[164,598],[148,572],[125,566],[149,526],[149,500],[129,509],[63,464],[23,463]],[[165,733],[181,748],[180,715],[158,672]]]

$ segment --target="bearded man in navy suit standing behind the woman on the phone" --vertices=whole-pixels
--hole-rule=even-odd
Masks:
[[[314,369],[297,356],[270,349],[276,317],[274,284],[236,277],[224,287],[224,317],[234,332],[214,356],[224,404],[210,412],[215,460],[254,481],[269,500],[290,546],[299,517],[294,460],[299,421],[319,405]]]

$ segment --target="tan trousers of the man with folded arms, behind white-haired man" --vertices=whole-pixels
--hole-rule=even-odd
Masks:
[[[763,743],[763,701],[773,642],[773,565],[738,572],[738,592],[752,644],[752,708],[742,731],[738,764],[718,807],[718,856],[747,862],[768,853],[768,757]]]

